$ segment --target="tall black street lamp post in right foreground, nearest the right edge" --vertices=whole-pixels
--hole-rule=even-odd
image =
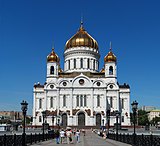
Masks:
[[[132,105],[132,111],[133,111],[133,124],[134,124],[134,133],[133,133],[133,143],[135,145],[135,138],[136,138],[136,114],[138,109],[138,102],[135,100],[133,101]]]

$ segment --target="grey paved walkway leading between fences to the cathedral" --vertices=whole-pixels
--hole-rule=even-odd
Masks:
[[[86,132],[86,136],[81,134],[80,143],[76,143],[75,138],[73,137],[73,144],[67,144],[67,141],[64,141],[64,144],[56,144],[55,139],[33,144],[32,146],[131,146],[129,144],[117,142],[110,139],[103,139],[91,131]]]

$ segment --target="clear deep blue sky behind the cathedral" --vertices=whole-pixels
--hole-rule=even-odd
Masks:
[[[0,0],[0,110],[21,110],[33,85],[43,84],[52,45],[61,58],[83,15],[97,40],[100,69],[112,41],[118,82],[131,87],[131,101],[160,107],[160,2],[158,0]]]

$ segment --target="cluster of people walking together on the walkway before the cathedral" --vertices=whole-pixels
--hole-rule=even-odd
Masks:
[[[85,136],[85,131],[82,130],[82,132],[84,133],[84,136]],[[56,138],[56,143],[57,144],[60,144],[60,143],[66,143],[67,141],[67,144],[70,144],[70,143],[73,143],[73,138],[75,137],[76,139],[76,143],[79,143],[79,139],[80,139],[80,130],[78,129],[57,129],[55,131],[55,138]]]

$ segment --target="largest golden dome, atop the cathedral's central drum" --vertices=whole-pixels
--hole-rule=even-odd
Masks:
[[[98,50],[98,43],[87,33],[82,22],[78,32],[66,42],[65,49],[81,46]]]

